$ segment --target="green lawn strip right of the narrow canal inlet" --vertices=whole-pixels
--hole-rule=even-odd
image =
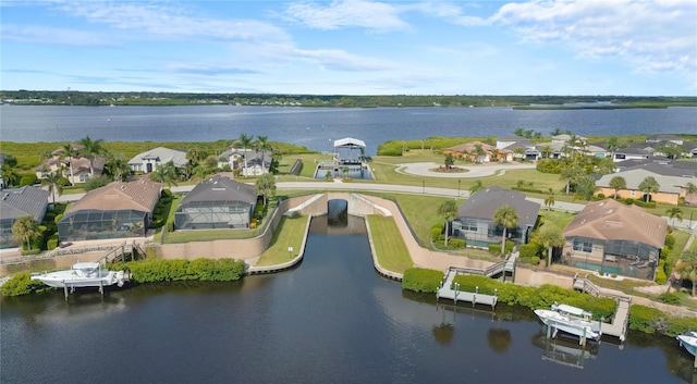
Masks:
[[[412,268],[414,263],[394,219],[370,214],[367,220],[380,265],[396,273],[404,273]]]

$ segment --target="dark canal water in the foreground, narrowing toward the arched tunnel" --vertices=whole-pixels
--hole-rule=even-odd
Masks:
[[[1,383],[693,383],[692,357],[632,333],[579,349],[531,311],[453,308],[372,268],[365,224],[315,218],[305,259],[225,284],[4,298]]]

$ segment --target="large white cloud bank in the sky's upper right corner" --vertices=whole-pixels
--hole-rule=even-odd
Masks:
[[[697,71],[693,1],[533,1],[491,17],[524,42],[566,45],[578,57],[621,57],[635,71]]]

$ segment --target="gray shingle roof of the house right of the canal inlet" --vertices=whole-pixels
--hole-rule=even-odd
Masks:
[[[525,194],[497,186],[479,189],[460,206],[457,216],[491,220],[501,206],[511,206],[518,214],[518,226],[534,226],[540,205],[525,199]]]

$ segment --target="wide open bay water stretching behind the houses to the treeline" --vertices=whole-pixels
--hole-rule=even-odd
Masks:
[[[3,141],[216,141],[241,134],[330,151],[354,137],[368,154],[388,140],[502,137],[516,128],[549,136],[697,134],[697,108],[514,110],[512,108],[76,107],[0,106]],[[424,143],[428,148],[428,141]]]

